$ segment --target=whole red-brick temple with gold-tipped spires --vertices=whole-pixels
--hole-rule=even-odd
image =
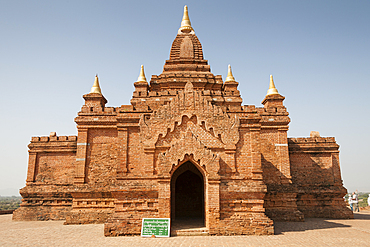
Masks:
[[[130,105],[106,107],[96,77],[77,136],[32,137],[14,220],[104,223],[118,236],[140,234],[142,218],[194,219],[209,235],[353,218],[335,138],[288,138],[272,76],[263,107],[242,105],[231,67],[225,81],[211,73],[186,6],[163,72],[148,83],[142,66],[134,86]]]

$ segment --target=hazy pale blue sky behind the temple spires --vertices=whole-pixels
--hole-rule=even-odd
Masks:
[[[334,136],[344,185],[370,192],[370,1],[0,0],[0,195],[24,187],[31,136],[77,134],[95,74],[120,106],[141,64],[162,72],[184,5],[211,72],[231,64],[256,106],[272,74],[288,135]]]

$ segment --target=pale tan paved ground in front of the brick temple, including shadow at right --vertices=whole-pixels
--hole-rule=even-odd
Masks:
[[[103,224],[12,221],[0,215],[0,246],[370,246],[370,211],[353,220],[276,222],[273,236],[104,237]]]

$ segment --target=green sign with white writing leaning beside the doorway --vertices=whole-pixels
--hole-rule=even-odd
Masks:
[[[141,223],[142,237],[169,237],[170,218],[143,218]]]

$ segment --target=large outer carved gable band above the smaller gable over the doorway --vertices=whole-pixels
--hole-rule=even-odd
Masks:
[[[154,149],[159,135],[165,137],[181,125],[183,116],[189,119],[196,116],[197,124],[202,126],[204,123],[205,129],[213,133],[225,145],[225,149],[235,150],[239,141],[238,116],[227,114],[221,107],[212,105],[202,96],[201,91],[193,89],[191,82],[169,104],[142,116],[140,133],[144,148]]]

